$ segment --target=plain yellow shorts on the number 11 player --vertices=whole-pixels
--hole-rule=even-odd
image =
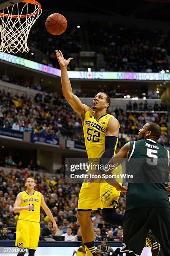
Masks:
[[[36,250],[40,238],[40,223],[18,220],[15,246]]]

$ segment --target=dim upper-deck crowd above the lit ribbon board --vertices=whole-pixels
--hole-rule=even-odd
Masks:
[[[81,30],[85,40],[81,36]],[[80,29],[76,24],[69,23],[65,33],[59,37],[50,35],[44,25],[37,22],[30,31],[28,46],[35,48],[34,55],[25,53],[21,55],[22,57],[36,61],[36,49],[38,49],[45,56],[41,63],[57,68],[59,66],[55,57],[55,48],[60,49],[65,58],[70,57],[72,53],[87,49],[103,55],[105,67],[100,69],[95,67],[95,70],[100,71],[160,72],[169,69],[166,55],[170,54],[170,47],[166,33],[158,30],[141,30],[135,26],[115,25],[112,20],[102,24],[88,20],[85,26],[80,26]],[[79,67],[77,61],[75,65],[70,62],[69,69],[83,70],[85,67]]]

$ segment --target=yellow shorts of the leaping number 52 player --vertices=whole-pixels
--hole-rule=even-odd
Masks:
[[[112,174],[122,173],[122,166],[118,166],[116,172]],[[78,210],[90,211],[103,208],[117,207],[120,191],[112,187],[106,181],[103,183],[83,183],[78,198]],[[105,183],[104,183],[105,182]],[[122,184],[122,179],[117,182]]]

